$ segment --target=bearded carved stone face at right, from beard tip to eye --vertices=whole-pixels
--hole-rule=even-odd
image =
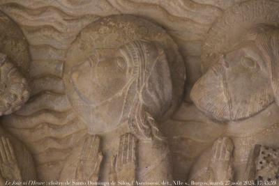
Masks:
[[[193,86],[191,98],[220,121],[247,118],[273,102],[267,69],[260,50],[244,45],[221,56]]]

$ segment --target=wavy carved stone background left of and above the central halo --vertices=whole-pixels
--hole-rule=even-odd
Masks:
[[[3,122],[31,149],[40,179],[56,180],[63,160],[85,133],[82,123],[75,121],[77,116],[70,113],[61,81],[66,50],[77,33],[98,17],[130,13],[161,24],[175,40],[183,40],[179,43],[183,55],[191,51],[199,55],[199,41],[221,12],[218,6],[199,1],[203,0],[0,1],[0,10],[22,27],[33,59],[30,70],[33,98],[24,110]],[[204,8],[210,13],[202,13]]]

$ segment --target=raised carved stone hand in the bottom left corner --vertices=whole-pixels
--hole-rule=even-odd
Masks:
[[[0,173],[1,180],[22,181],[13,146],[6,137],[0,139]]]

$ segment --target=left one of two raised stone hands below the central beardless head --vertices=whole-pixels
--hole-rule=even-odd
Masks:
[[[100,138],[97,135],[88,135],[84,141],[77,165],[76,180],[97,182],[102,160]]]

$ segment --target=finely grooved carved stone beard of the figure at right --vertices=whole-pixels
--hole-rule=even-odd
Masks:
[[[206,115],[218,121],[235,121],[257,114],[273,102],[273,93],[268,86],[259,86],[245,102],[233,100],[234,92],[229,91],[225,68],[217,63],[195,83],[190,97]]]

